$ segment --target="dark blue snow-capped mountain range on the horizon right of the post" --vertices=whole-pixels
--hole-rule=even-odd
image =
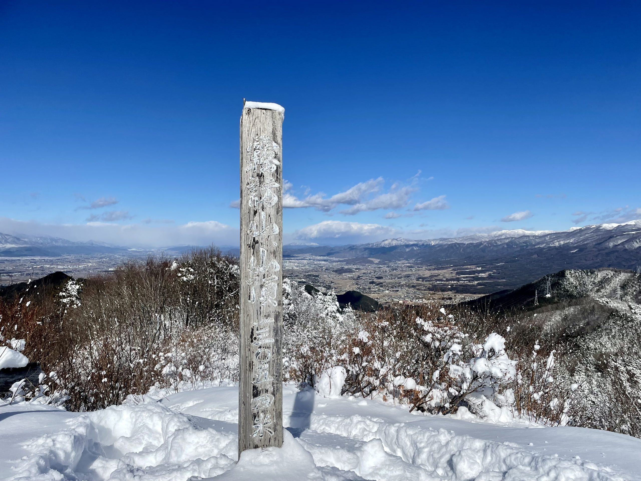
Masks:
[[[455,269],[478,281],[461,292],[513,288],[562,269],[641,266],[641,220],[599,224],[568,231],[499,231],[451,239],[387,239],[371,244],[288,249],[284,257],[314,255],[346,264],[410,261]],[[475,269],[469,269],[476,266]],[[478,289],[482,288],[481,291]],[[457,288],[458,289],[458,288]]]

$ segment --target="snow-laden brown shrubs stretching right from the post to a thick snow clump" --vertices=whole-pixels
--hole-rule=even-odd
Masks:
[[[515,377],[505,339],[490,333],[476,341],[463,330],[467,319],[436,304],[356,315],[340,312],[333,292],[310,293],[290,282],[283,292],[284,361],[291,381],[324,389],[329,370],[344,369],[345,392],[381,394],[429,412],[513,401],[503,394]],[[479,320],[465,314],[478,327]]]

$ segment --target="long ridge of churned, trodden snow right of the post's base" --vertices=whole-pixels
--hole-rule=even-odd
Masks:
[[[538,455],[513,443],[456,435],[443,428],[390,425],[363,416],[326,416],[312,430],[357,441],[350,448],[327,448],[310,441],[304,447],[319,465],[331,463],[365,479],[403,481],[465,480],[623,480],[579,457]]]

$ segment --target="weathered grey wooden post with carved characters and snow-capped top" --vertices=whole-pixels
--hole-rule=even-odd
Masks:
[[[240,117],[238,454],[283,445],[283,119],[273,103]]]

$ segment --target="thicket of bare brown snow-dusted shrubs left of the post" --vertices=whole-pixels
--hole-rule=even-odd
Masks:
[[[237,379],[237,261],[213,248],[128,262],[30,307],[0,302],[0,316],[0,333],[24,337],[26,355],[56,371],[49,385],[72,410],[154,384]]]

